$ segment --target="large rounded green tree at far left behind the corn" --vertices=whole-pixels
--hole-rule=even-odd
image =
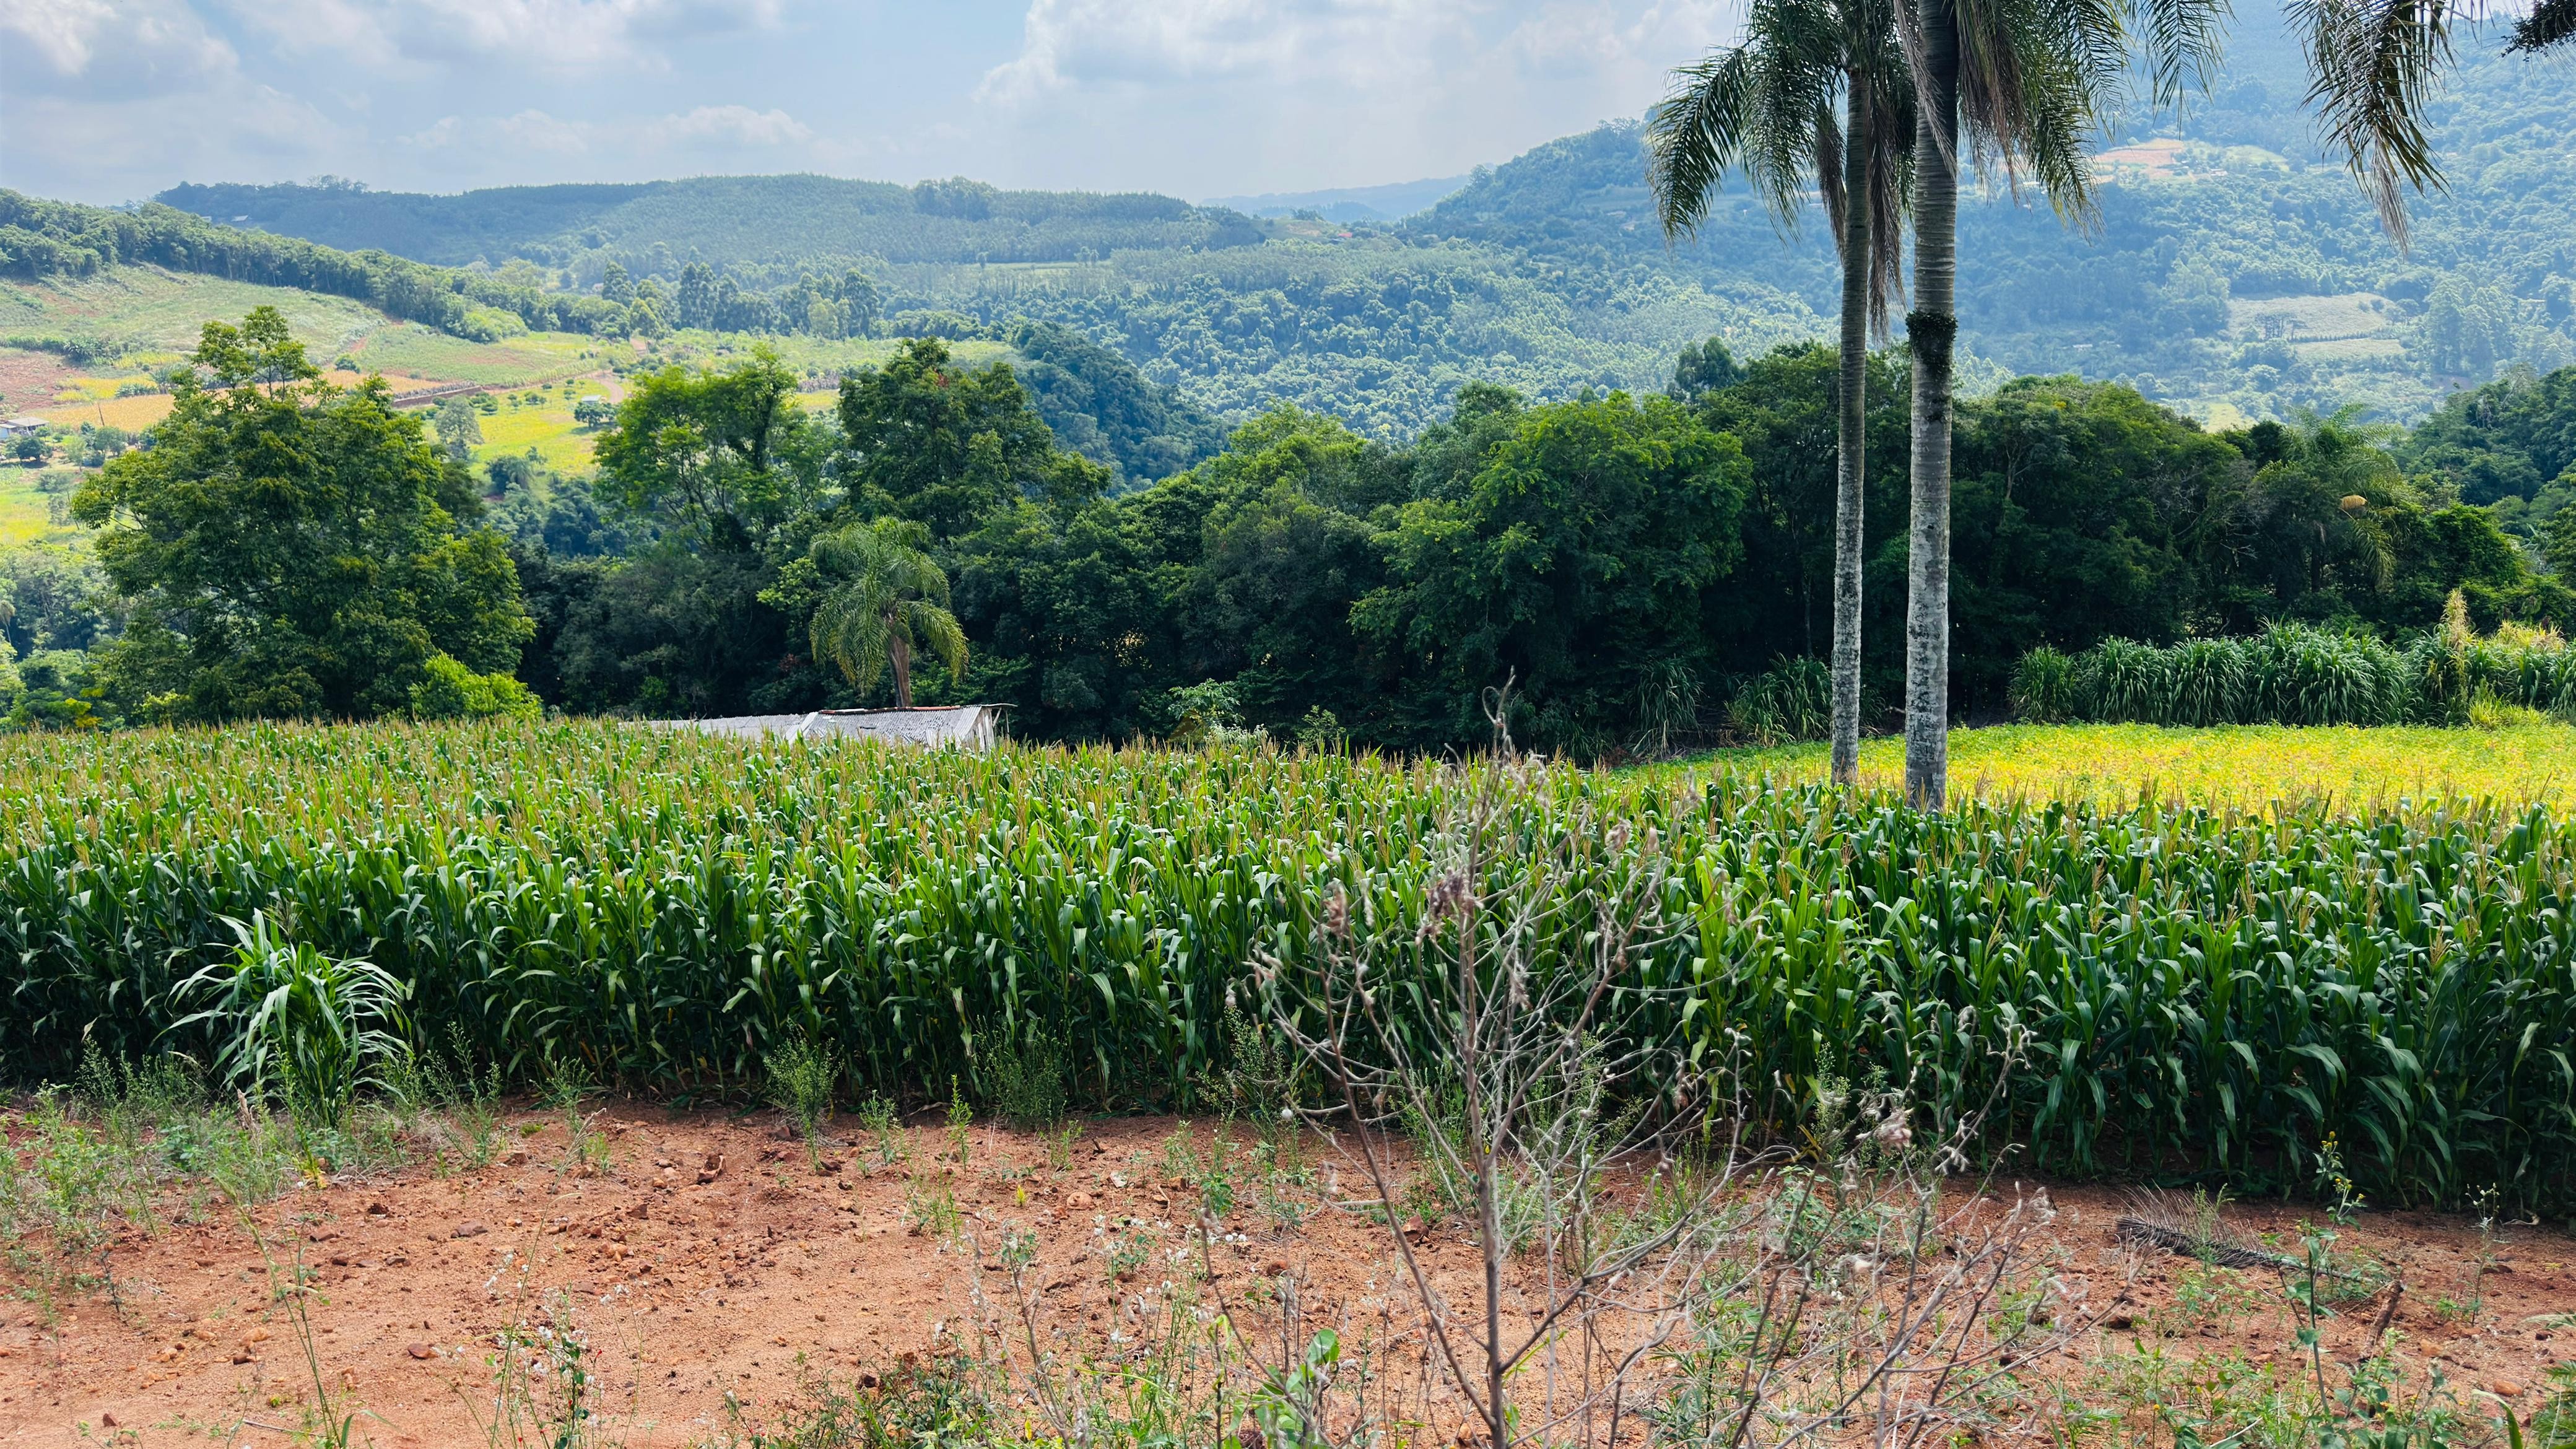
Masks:
[[[337,389],[286,320],[209,322],[155,446],[82,482],[72,513],[131,624],[108,694],[147,717],[374,717],[430,657],[507,673],[533,627],[502,539],[466,529],[464,469],[381,379]]]

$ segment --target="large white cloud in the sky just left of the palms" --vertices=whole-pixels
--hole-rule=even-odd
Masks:
[[[1023,186],[1412,180],[1643,113],[1744,3],[1028,0],[976,101],[989,165]]]

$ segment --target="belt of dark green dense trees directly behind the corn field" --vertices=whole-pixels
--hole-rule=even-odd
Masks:
[[[1084,343],[1023,345],[1079,364]],[[1079,382],[1054,366],[1030,374]],[[1904,358],[1873,366],[1865,678],[1883,717],[1906,572]],[[894,683],[848,668],[822,627],[863,583],[858,557],[909,559],[914,596],[956,621],[956,670],[914,670],[914,696],[1010,704],[1028,737],[1265,730],[1440,750],[1484,737],[1481,696],[1502,681],[1522,743],[1584,758],[1819,727],[1824,345],[1739,361],[1713,338],[1649,394],[1466,384],[1412,443],[1275,407],[1126,490],[1041,418],[1015,366],[961,366],[938,338],[842,376],[832,410],[796,407],[799,384],[765,356],[639,374],[592,474],[520,459],[469,474],[374,384],[319,382],[273,315],[209,333],[157,446],[75,495],[106,580],[10,557],[18,714],[518,709],[520,688],[641,717],[886,701]],[[2071,376],[1973,400],[1958,714],[2002,717],[2038,645],[2280,621],[2403,639],[2452,598],[2476,629],[2576,629],[2571,400],[2576,369],[2499,382],[2411,436],[2339,415],[2213,433]],[[1198,446],[1185,423],[1121,425],[1180,459]],[[281,456],[286,431],[304,438],[291,480],[240,498],[180,485],[240,474],[245,449]],[[2532,503],[2512,516],[2470,500],[2517,487]],[[209,508],[232,526],[204,529]],[[335,534],[343,518],[363,534]],[[240,608],[209,614],[214,580]]]

